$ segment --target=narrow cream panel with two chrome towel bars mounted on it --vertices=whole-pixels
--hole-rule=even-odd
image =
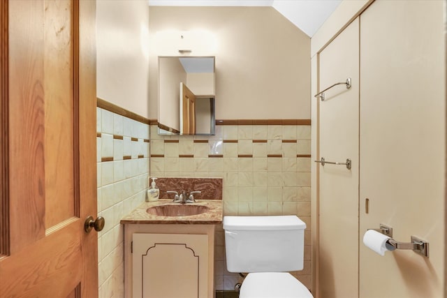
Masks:
[[[358,66],[359,22],[354,20],[319,54],[318,159],[346,165],[318,165],[318,297],[358,296]]]

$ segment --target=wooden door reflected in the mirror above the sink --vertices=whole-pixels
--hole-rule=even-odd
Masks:
[[[180,133],[182,135],[193,135],[196,133],[196,95],[193,94],[186,84],[180,83]]]

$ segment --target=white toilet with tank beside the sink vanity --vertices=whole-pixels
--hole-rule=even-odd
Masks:
[[[312,298],[302,270],[306,224],[297,216],[224,216],[228,271],[249,274],[240,298]]]

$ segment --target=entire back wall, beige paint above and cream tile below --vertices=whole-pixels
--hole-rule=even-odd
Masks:
[[[310,40],[273,8],[154,6],[149,20],[151,40],[157,31],[168,29],[214,33],[217,119],[309,119]],[[157,106],[157,56],[154,45],[149,56],[152,111]],[[166,138],[179,142],[164,142]],[[196,138],[208,142],[158,136],[152,126],[151,154],[163,157],[150,158],[151,176],[223,177],[226,215],[300,216],[308,223],[305,269],[293,274],[311,288],[310,126],[217,126],[216,135]],[[216,290],[233,290],[240,278],[226,271],[224,246],[219,227]]]

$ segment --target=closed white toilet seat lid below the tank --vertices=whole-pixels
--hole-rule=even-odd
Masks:
[[[244,279],[240,298],[313,298],[298,279],[287,272],[256,272]]]

